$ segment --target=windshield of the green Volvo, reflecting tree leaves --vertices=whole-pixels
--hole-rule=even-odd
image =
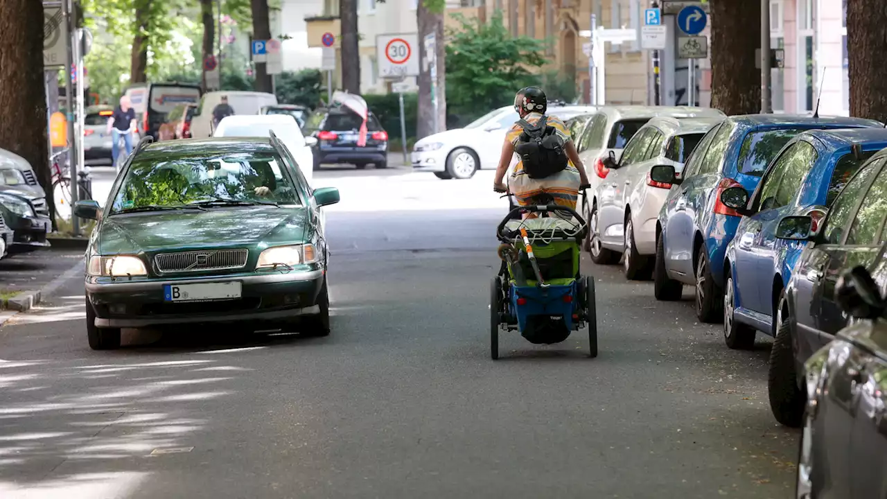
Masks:
[[[114,196],[111,214],[177,209],[201,202],[300,204],[276,152],[136,157]],[[263,189],[262,187],[266,187]]]

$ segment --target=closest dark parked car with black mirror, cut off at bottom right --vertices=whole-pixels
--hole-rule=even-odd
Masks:
[[[883,497],[887,490],[883,283],[860,267],[844,274],[837,295],[853,323],[805,362],[810,399],[798,452],[798,499]]]

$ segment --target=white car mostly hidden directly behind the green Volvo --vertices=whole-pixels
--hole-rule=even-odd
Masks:
[[[219,122],[214,137],[271,137],[271,131],[293,154],[299,170],[311,185],[314,179],[314,154],[311,147],[318,139],[305,137],[291,115],[233,115]]]

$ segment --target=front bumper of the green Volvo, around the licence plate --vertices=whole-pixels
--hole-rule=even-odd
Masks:
[[[98,281],[88,277],[86,296],[100,328],[145,328],[163,324],[232,321],[281,321],[318,313],[318,294],[326,271],[237,274],[163,281]],[[241,284],[239,298],[204,302],[167,302],[164,284],[232,282]]]

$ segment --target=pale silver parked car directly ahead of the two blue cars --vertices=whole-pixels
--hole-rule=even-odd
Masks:
[[[671,189],[671,184],[650,178],[650,169],[671,165],[679,177],[690,151],[723,120],[723,116],[661,116],[640,127],[592,192],[588,245],[593,261],[609,263],[624,254],[625,277],[649,279],[656,253],[656,220]]]

